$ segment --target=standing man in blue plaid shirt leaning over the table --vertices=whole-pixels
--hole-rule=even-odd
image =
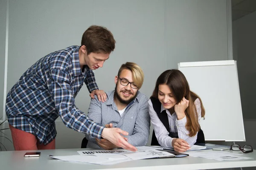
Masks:
[[[20,77],[6,98],[15,150],[55,149],[58,116],[73,130],[137,150],[120,135],[127,132],[93,122],[75,105],[74,99],[83,83],[92,98],[97,95],[102,102],[106,100],[92,70],[102,67],[114,48],[113,34],[107,28],[90,26],[82,36],[81,46],[48,54]]]

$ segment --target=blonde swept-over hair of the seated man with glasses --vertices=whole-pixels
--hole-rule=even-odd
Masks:
[[[125,64],[122,64],[121,67],[119,68],[117,77],[120,76],[121,72],[124,69],[131,71],[133,83],[138,86],[138,90],[139,90],[144,81],[144,73],[140,68],[140,66],[137,65],[135,62],[126,62]]]

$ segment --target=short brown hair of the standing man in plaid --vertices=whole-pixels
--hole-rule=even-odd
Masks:
[[[84,31],[81,45],[85,45],[87,55],[93,53],[110,54],[115,49],[113,34],[105,27],[90,26]]]

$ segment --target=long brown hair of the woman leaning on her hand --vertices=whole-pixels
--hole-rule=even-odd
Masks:
[[[189,90],[189,83],[187,82],[184,74],[179,70],[173,69],[164,71],[157,78],[156,86],[151,97],[158,99],[159,85],[168,85],[177,103],[179,103],[183,97],[189,100],[189,106],[185,111],[187,118],[186,129],[189,130],[189,136],[195,136],[196,133],[200,130],[200,125],[198,123],[198,113],[194,104],[197,98],[201,103],[201,117],[204,117],[205,115],[205,110],[201,98]]]

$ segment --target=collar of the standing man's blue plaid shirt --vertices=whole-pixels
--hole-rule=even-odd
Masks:
[[[78,48],[76,48],[72,53],[72,70],[73,70],[74,76],[79,76],[83,74],[83,72],[81,71],[80,62],[79,62],[79,48],[80,47],[78,46]],[[90,68],[87,65],[85,65],[84,74],[87,71],[90,71]]]

